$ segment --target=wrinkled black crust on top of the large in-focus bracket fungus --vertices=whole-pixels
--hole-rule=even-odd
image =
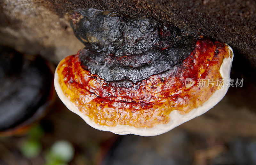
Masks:
[[[152,18],[131,18],[112,11],[87,9],[75,26],[85,44],[82,67],[106,81],[136,83],[172,69],[193,51],[197,38]]]

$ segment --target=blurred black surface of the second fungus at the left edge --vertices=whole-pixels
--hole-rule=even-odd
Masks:
[[[0,131],[30,120],[46,102],[51,85],[52,73],[43,59],[29,60],[0,47]]]

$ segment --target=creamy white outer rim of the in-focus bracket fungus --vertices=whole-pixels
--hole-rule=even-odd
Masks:
[[[228,56],[224,58],[221,66],[219,67],[219,72],[222,79],[228,80],[230,78],[230,69],[233,60],[233,50],[230,46],[227,45],[228,48]],[[61,63],[60,63],[61,64]],[[60,65],[59,64],[59,65]],[[86,123],[98,130],[111,131],[116,134],[124,135],[124,134],[135,134],[140,136],[155,136],[162,133],[165,133],[173,128],[179,126],[180,124],[187,122],[201,114],[204,114],[213,106],[215,106],[226,94],[228,91],[228,86],[222,85],[220,89],[217,89],[210,98],[208,98],[201,106],[191,109],[188,113],[182,114],[177,110],[172,110],[169,113],[169,121],[167,123],[155,124],[152,127],[136,127],[131,125],[120,125],[117,124],[115,126],[108,125],[100,125],[99,123],[92,120],[88,114],[83,113],[79,110],[76,103],[70,101],[70,97],[66,96],[60,86],[59,83],[59,73],[57,67],[55,71],[54,85],[57,91],[58,96],[61,101],[68,107],[68,109],[76,114],[78,114],[81,118],[84,119]],[[202,91],[204,92],[204,91]],[[96,110],[96,109],[95,109]]]

